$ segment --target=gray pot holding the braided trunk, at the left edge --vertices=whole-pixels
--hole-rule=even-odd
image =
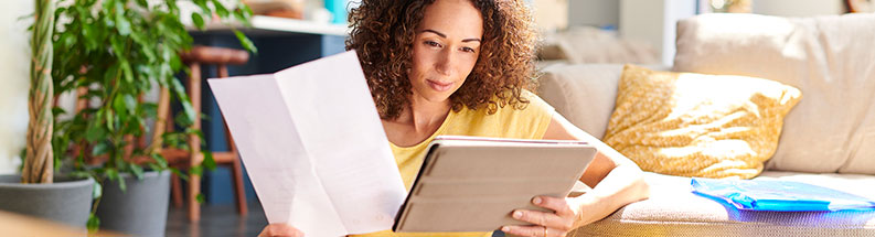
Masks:
[[[85,228],[94,180],[55,177],[51,184],[22,184],[18,174],[0,175],[0,209]]]

